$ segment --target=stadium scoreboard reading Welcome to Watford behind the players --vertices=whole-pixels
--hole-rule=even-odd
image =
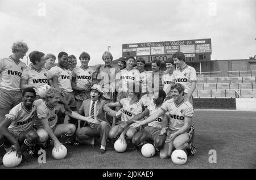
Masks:
[[[135,58],[143,57],[146,63],[153,59],[166,61],[175,52],[183,52],[186,62],[210,61],[212,43],[210,38],[197,40],[143,42],[122,45],[122,56],[132,55]]]

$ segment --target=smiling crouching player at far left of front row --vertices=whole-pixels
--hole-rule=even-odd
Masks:
[[[23,152],[32,147],[38,140],[38,134],[33,130],[36,107],[43,100],[35,100],[36,92],[33,88],[24,88],[23,102],[14,106],[3,121],[0,122],[0,147],[5,143],[5,149],[11,145],[17,155],[23,156]],[[23,162],[27,160],[23,157]]]

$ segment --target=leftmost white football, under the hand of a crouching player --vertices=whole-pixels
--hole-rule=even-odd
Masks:
[[[22,156],[18,158],[18,156],[16,156],[16,151],[7,152],[5,156],[3,156],[3,165],[7,168],[14,168],[15,166],[18,166],[21,161]]]

